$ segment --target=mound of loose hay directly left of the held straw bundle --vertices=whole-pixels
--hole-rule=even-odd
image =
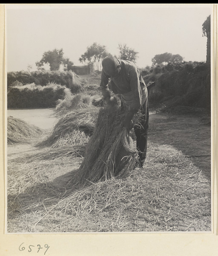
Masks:
[[[55,148],[62,145],[87,143],[94,131],[97,116],[98,108],[94,106],[70,111],[58,119],[52,134],[46,140],[38,143],[37,146]]]

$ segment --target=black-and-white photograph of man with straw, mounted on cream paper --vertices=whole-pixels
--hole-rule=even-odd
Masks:
[[[212,232],[212,14],[5,4],[6,234]]]

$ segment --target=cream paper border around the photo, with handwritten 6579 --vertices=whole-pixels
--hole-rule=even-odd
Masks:
[[[217,256],[218,252],[218,180],[217,180],[217,111],[218,111],[218,72],[217,72],[217,23],[218,5],[211,4],[212,49],[211,49],[211,142],[212,142],[212,231],[211,232],[143,232],[143,233],[6,233],[6,43],[5,43],[5,4],[0,4],[0,54],[1,82],[1,198],[0,198],[0,255],[44,255],[45,245],[49,246],[46,255],[51,256]],[[34,246],[44,247],[39,253],[30,250]],[[26,248],[22,250],[22,248]],[[28,251],[30,250],[30,251]]]

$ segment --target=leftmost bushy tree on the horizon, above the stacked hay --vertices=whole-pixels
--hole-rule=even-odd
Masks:
[[[54,49],[44,52],[41,60],[36,62],[36,66],[39,68],[43,67],[44,64],[49,64],[51,71],[59,70],[61,64],[66,70],[70,70],[73,62],[69,58],[63,57],[63,49]]]

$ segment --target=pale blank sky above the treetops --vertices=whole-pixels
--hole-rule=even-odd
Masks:
[[[202,24],[209,15],[212,4],[6,4],[6,69],[36,70],[53,49],[83,65],[79,58],[94,42],[117,56],[126,44],[140,68],[165,52],[206,61]]]

